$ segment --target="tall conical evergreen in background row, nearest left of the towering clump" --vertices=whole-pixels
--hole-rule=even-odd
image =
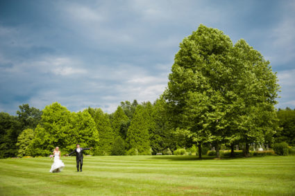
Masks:
[[[149,123],[146,121],[144,114],[144,107],[137,105],[126,137],[127,149],[137,149],[140,155],[150,154],[151,148],[149,143]]]

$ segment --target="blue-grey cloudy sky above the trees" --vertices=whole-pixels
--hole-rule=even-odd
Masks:
[[[0,0],[0,111],[153,102],[199,24],[260,51],[278,72],[277,107],[295,107],[295,1]]]

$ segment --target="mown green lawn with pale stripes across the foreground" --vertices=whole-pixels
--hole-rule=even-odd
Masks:
[[[295,195],[295,156],[215,160],[195,156],[0,159],[0,195]]]

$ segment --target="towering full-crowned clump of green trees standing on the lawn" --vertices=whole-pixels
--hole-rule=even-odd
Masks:
[[[164,93],[170,121],[200,151],[209,142],[219,157],[221,143],[248,147],[276,129],[276,74],[243,39],[233,46],[221,30],[200,25],[180,43],[171,72]]]

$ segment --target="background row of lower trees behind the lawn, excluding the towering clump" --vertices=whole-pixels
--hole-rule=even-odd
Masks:
[[[279,109],[277,114],[280,129],[267,142],[295,145],[295,109]],[[83,112],[69,112],[58,103],[41,112],[24,104],[19,106],[17,115],[0,112],[1,158],[47,156],[56,146],[67,154],[76,143],[94,147],[90,152],[94,155],[170,154],[177,148],[198,144],[187,132],[172,129],[163,99],[153,105],[139,105],[136,100],[133,104],[122,102],[112,114],[90,107]],[[230,147],[230,143],[224,144]]]

